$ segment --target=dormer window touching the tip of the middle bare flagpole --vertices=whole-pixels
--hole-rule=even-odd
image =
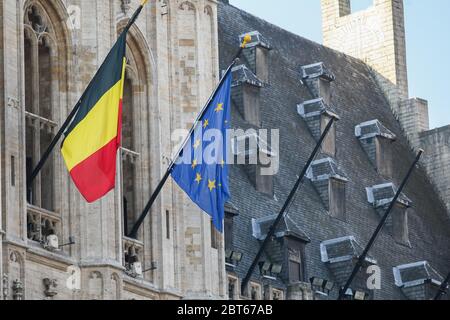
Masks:
[[[323,98],[305,101],[297,106],[297,111],[306,121],[316,141],[322,136],[331,118],[339,119]],[[336,124],[333,124],[322,143],[322,151],[333,157],[336,155]]]

